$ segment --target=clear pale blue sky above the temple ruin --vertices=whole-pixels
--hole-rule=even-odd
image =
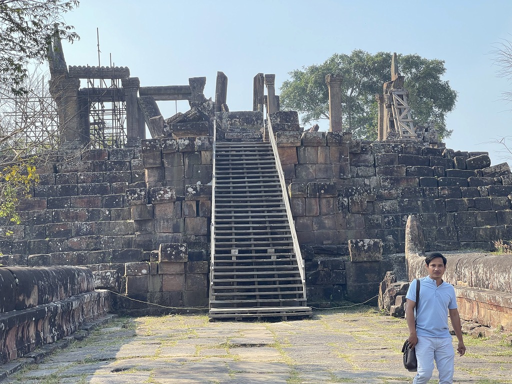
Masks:
[[[512,105],[501,95],[512,82],[497,76],[490,52],[512,40],[509,0],[81,0],[64,17],[80,35],[63,42],[68,65],[98,65],[98,29],[101,65],[129,67],[143,87],[206,76],[205,96],[215,99],[217,71],[224,72],[230,111],[252,110],[257,73],[274,73],[279,94],[289,72],[334,53],[441,59],[443,80],[458,92],[446,146],[488,151],[493,164],[506,160],[493,141],[512,135]],[[159,106],[164,118],[188,110],[186,101]]]

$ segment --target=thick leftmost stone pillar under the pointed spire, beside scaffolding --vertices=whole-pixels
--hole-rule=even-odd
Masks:
[[[61,145],[80,146],[80,115],[78,88],[80,80],[66,75],[52,77],[49,81],[50,94],[57,104]]]

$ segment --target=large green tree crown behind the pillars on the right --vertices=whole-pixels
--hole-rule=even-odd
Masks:
[[[294,110],[309,123],[329,118],[329,94],[325,76],[343,76],[342,116],[344,130],[355,137],[374,140],[377,132],[376,94],[383,83],[391,80],[390,52],[370,54],[354,50],[350,55],[335,53],[320,65],[311,65],[289,73],[291,79],[281,86],[280,104]],[[446,72],[444,61],[419,55],[398,55],[400,74],[405,76],[404,88],[409,90],[411,115],[416,124],[429,121],[441,138],[450,137],[445,116],[455,108],[457,92],[441,77]]]

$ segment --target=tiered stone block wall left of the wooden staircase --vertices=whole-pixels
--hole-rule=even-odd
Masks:
[[[86,265],[97,287],[161,305],[207,306],[212,137],[89,150],[39,172],[33,198],[20,204],[22,223],[5,228],[13,236],[0,242],[0,263]],[[177,282],[159,268],[161,244],[185,244],[190,255]]]

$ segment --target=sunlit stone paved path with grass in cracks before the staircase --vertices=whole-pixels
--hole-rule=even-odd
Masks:
[[[4,382],[411,382],[414,374],[403,369],[399,351],[405,321],[355,308],[280,323],[209,323],[205,315],[119,318]],[[465,336],[465,343],[466,356],[456,357],[456,383],[512,383],[512,348],[500,334]]]

